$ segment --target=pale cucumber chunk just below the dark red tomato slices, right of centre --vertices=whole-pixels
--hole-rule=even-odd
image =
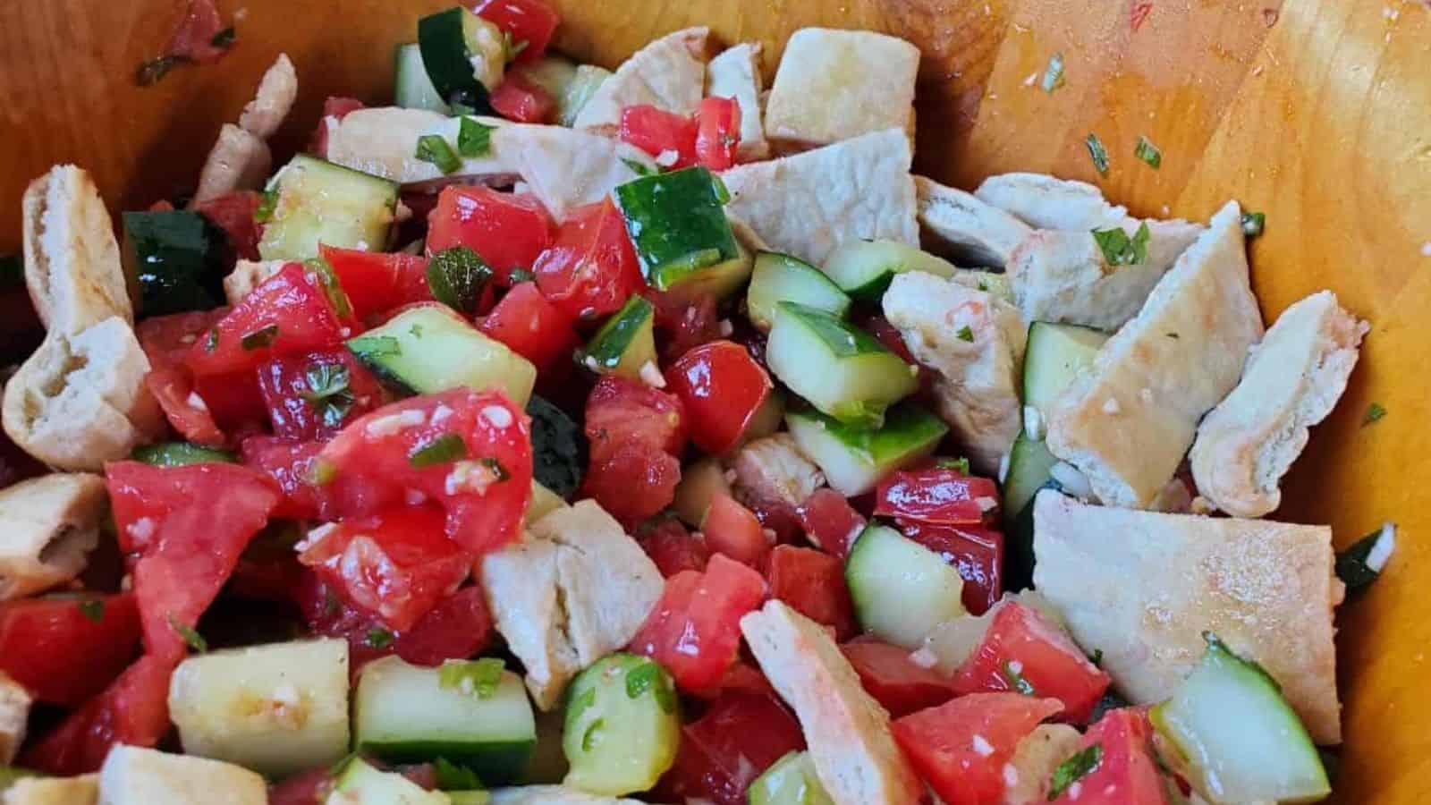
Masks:
[[[959,572],[889,526],[864,527],[850,549],[844,580],[860,626],[910,650],[940,623],[967,614]]]

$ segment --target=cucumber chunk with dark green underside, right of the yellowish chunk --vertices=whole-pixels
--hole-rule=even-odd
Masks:
[[[396,656],[363,667],[353,700],[356,749],[391,762],[446,758],[484,782],[517,779],[537,741],[522,678],[502,670],[491,690],[469,690],[444,685],[442,672]]]

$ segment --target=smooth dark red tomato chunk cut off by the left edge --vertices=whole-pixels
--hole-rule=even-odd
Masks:
[[[82,603],[102,607],[99,620],[86,616]],[[69,708],[83,703],[124,670],[137,647],[139,607],[133,593],[0,604],[0,670],[40,702]]]

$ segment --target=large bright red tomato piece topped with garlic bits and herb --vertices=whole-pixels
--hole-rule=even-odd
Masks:
[[[425,497],[446,513],[448,537],[484,554],[521,534],[532,486],[531,421],[499,391],[455,388],[363,415],[318,461],[319,481],[371,493],[349,498],[362,508],[346,517]]]

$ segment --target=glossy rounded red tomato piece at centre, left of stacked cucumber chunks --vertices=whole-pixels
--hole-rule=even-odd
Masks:
[[[685,352],[665,370],[665,382],[685,404],[691,441],[717,455],[736,447],[774,388],[766,370],[734,341],[711,341]]]

